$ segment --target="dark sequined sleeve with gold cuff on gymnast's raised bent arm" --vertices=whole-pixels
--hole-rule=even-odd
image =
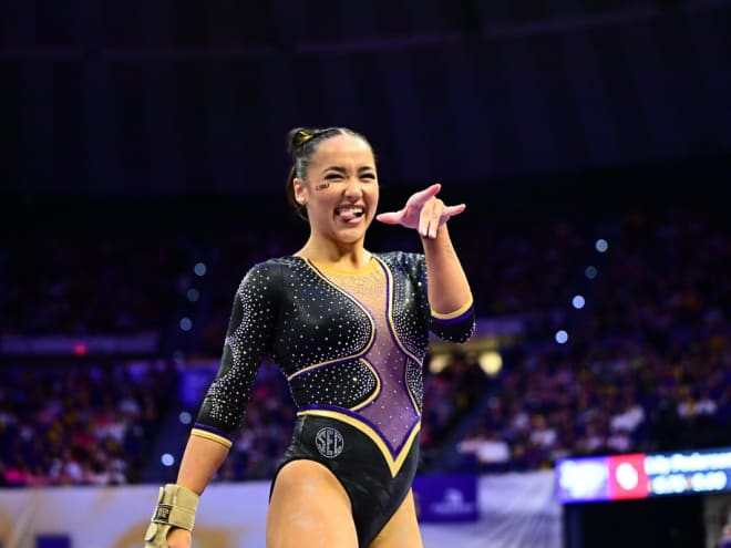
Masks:
[[[426,317],[429,330],[445,341],[465,342],[469,340],[475,330],[475,312],[472,300],[465,302],[459,310],[447,314],[434,312],[428,298],[426,258],[422,254],[403,254],[402,263],[408,267],[415,286],[421,289],[421,310]]]

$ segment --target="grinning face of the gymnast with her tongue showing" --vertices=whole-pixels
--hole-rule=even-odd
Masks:
[[[334,244],[362,244],[375,216],[379,187],[375,159],[363,139],[338,134],[318,143],[305,179],[295,178],[295,197],[307,207],[312,237]]]

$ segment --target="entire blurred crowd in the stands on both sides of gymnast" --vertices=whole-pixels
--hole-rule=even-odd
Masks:
[[[600,227],[536,219],[462,240],[457,227],[478,316],[518,319],[526,329],[500,349],[500,371],[483,372],[469,348],[455,348],[439,372],[425,369],[423,469],[528,471],[568,455],[731,445],[727,225],[670,209],[603,219]],[[609,246],[600,255],[598,235]],[[258,260],[296,250],[301,238],[288,238],[226,231],[134,245],[49,239],[33,254],[7,248],[2,330],[172,331],[177,339],[166,340],[163,354],[179,347],[215,356],[240,277]],[[373,249],[389,247],[375,241]],[[586,275],[588,265],[595,276]],[[586,306],[575,309],[578,292]],[[171,330],[181,314],[193,329]],[[554,340],[558,329],[568,333],[564,344]],[[0,480],[140,480],[164,394],[174,394],[174,368],[0,366]],[[294,413],[281,374],[266,364],[217,479],[270,477]]]

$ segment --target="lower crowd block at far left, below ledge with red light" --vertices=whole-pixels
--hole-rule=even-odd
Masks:
[[[3,364],[0,485],[140,480],[174,396],[165,361]]]

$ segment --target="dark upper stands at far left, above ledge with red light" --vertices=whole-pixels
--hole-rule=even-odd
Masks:
[[[0,328],[16,334],[158,331],[193,261],[185,239],[62,234],[2,241]]]

